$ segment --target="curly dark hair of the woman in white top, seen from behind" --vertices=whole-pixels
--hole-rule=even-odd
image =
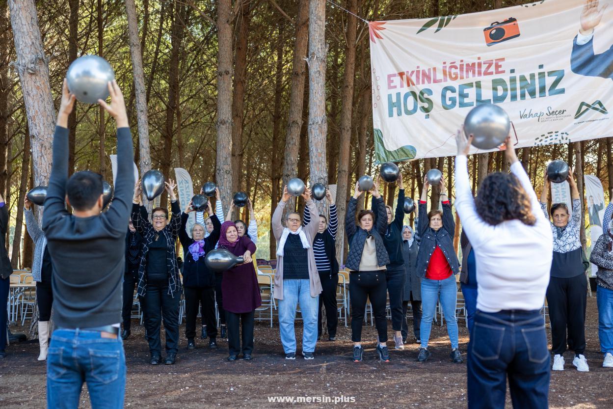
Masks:
[[[492,226],[505,220],[520,220],[528,226],[536,223],[530,197],[514,174],[494,172],[487,175],[474,204],[479,216]]]

